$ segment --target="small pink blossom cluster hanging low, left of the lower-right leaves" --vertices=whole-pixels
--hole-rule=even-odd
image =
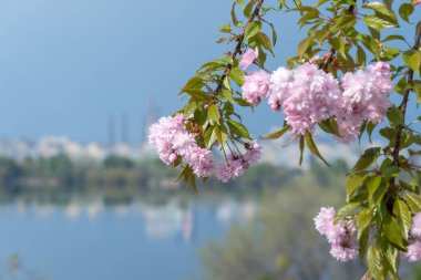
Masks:
[[[327,237],[333,258],[342,262],[353,260],[358,257],[357,241],[352,237],[356,228],[345,220],[335,222],[335,215],[332,207],[322,207],[315,217],[316,229]]]

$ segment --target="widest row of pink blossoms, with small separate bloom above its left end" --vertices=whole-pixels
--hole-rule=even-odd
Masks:
[[[247,69],[257,58],[248,50],[240,66]],[[253,71],[245,76],[243,97],[254,106],[268,97],[271,110],[285,113],[285,121],[296,135],[314,133],[318,123],[336,117],[339,142],[349,143],[360,134],[366,121],[378,124],[391,106],[392,81],[389,64],[377,62],[366,70],[346,73],[341,82],[316,64],[295,70],[279,68],[271,74]]]

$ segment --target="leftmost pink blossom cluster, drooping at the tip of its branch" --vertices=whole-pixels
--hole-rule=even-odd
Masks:
[[[215,174],[226,183],[240,176],[261,156],[261,147],[254,141],[245,144],[244,154],[232,153],[225,164],[217,166],[212,158],[212,151],[197,145],[197,135],[189,133],[184,122],[184,114],[176,114],[173,117],[162,117],[150,127],[148,141],[156,147],[161,160],[166,165],[182,162],[191,166],[198,177]]]

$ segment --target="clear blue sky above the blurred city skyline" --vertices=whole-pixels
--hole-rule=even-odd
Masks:
[[[2,0],[0,136],[104,142],[107,115],[126,113],[130,138],[138,141],[148,96],[162,114],[172,114],[183,105],[176,94],[185,81],[230,49],[215,43],[217,28],[230,20],[230,6],[227,0]],[[273,19],[279,44],[268,69],[284,64],[305,37],[294,17]],[[258,110],[246,123],[259,135],[281,116]]]

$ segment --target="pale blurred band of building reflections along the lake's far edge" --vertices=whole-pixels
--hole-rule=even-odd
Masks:
[[[33,195],[33,194],[32,194]],[[0,204],[0,216],[16,214],[23,219],[48,220],[65,219],[71,221],[89,218],[95,220],[107,215],[116,219],[127,216],[136,217],[144,225],[144,236],[150,240],[176,239],[189,243],[201,222],[196,218],[202,205],[207,205],[212,218],[222,226],[233,222],[244,222],[253,219],[257,209],[254,200],[238,200],[235,197],[223,196],[218,199],[194,197],[193,199],[168,195],[164,200],[151,203],[151,196],[137,195],[124,199],[113,200],[110,197],[95,194],[70,194],[66,201],[51,200],[45,196],[22,194],[13,196]],[[156,194],[152,194],[155,196]]]

